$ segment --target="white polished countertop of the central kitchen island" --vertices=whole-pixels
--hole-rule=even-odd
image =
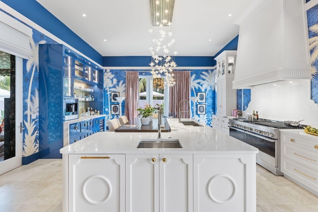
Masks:
[[[190,119],[182,119],[190,120]],[[140,153],[257,153],[258,149],[209,126],[194,127],[167,119],[171,132],[162,139],[178,139],[182,148],[137,148],[141,139],[157,139],[158,133],[99,132],[60,149],[62,154]]]

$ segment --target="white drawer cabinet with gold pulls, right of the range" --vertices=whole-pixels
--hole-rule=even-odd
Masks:
[[[281,130],[281,171],[318,195],[318,137],[304,130]]]

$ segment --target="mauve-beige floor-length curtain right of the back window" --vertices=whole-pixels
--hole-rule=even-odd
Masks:
[[[175,113],[178,118],[179,102],[183,99],[189,101],[190,96],[190,71],[173,71],[175,85],[169,88],[169,113]],[[181,113],[182,118],[190,118],[190,109],[187,101],[182,101]]]

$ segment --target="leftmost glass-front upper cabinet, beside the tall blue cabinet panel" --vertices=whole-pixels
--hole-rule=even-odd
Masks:
[[[64,56],[64,84],[63,84],[63,93],[65,96],[73,95],[73,67],[74,59],[71,56]]]

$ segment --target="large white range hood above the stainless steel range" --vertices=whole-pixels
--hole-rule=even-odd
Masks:
[[[304,0],[255,0],[236,23],[233,88],[311,78]]]

